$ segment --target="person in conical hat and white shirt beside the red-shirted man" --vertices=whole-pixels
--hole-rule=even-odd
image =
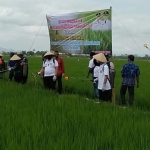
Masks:
[[[49,90],[55,90],[55,82],[57,79],[58,62],[53,59],[54,54],[48,51],[43,61],[41,76],[43,77],[44,87]]]

